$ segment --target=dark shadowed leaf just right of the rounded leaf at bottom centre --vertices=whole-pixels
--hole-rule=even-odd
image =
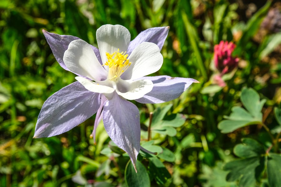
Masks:
[[[171,175],[165,165],[158,158],[149,158],[148,172],[157,184],[164,185]]]

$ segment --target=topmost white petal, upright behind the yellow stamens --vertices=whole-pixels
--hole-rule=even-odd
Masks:
[[[107,61],[106,53],[112,54],[116,50],[125,52],[130,44],[131,34],[121,25],[103,25],[96,30],[96,41],[100,50],[102,64]],[[107,69],[108,67],[105,66]]]

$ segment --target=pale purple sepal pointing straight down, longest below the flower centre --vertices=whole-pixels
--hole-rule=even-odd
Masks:
[[[136,169],[140,151],[141,126],[139,109],[116,93],[103,107],[103,123],[111,140],[126,151]]]

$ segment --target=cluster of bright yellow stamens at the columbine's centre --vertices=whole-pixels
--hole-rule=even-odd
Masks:
[[[119,53],[119,49],[112,54],[106,53],[107,62],[104,65],[109,67],[107,79],[115,81],[131,65],[127,59],[128,54],[125,53],[126,51]]]

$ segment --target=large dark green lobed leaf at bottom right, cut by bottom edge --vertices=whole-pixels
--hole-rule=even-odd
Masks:
[[[256,179],[264,170],[264,157],[251,157],[228,162],[224,170],[231,170],[227,181],[239,180],[239,186],[254,186]]]

